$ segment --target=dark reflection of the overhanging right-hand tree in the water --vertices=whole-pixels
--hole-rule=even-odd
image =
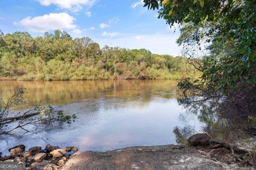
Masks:
[[[186,112],[196,114],[199,121],[204,123],[203,131],[207,132],[215,140],[235,140],[246,138],[246,128],[252,123],[248,123],[245,116],[234,116],[223,114],[223,105],[218,100],[201,100],[196,97],[178,98],[179,105],[186,108]],[[185,127],[186,128],[186,127]],[[179,141],[181,137],[187,137],[186,129],[175,130],[175,135]]]

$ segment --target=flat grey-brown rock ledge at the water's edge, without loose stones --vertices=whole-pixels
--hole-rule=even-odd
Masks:
[[[85,151],[68,160],[61,169],[197,169],[219,170],[223,165],[186,145],[128,147],[107,152]]]

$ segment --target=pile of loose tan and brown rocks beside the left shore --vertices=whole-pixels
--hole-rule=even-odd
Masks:
[[[25,162],[27,169],[60,169],[67,160],[78,151],[77,147],[51,146],[50,144],[43,150],[41,147],[31,147],[25,151],[25,145],[18,145],[9,149],[9,156],[2,157],[0,161]]]

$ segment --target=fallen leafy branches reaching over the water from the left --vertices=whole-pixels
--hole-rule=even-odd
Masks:
[[[53,108],[52,106],[37,106],[34,109],[30,109],[26,112],[20,112],[17,116],[9,116],[9,109],[12,107],[12,105],[18,105],[24,101],[23,94],[24,90],[22,88],[16,88],[14,95],[7,99],[6,104],[4,104],[2,102],[2,98],[0,98],[0,130],[3,128],[4,124],[17,121],[17,124],[15,124],[14,127],[7,130],[5,129],[5,131],[2,132],[0,131],[0,134],[7,134],[19,128],[29,132],[27,129],[25,129],[28,125],[34,125],[37,127],[46,126],[47,124],[51,124],[53,122],[75,122],[77,117],[76,114],[65,115],[62,110]]]

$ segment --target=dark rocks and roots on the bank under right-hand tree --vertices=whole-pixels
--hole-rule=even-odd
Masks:
[[[256,157],[253,157],[254,143],[221,142],[211,139],[207,133],[198,133],[188,138],[188,145],[198,149],[201,154],[213,161],[241,166],[255,166]],[[256,154],[255,154],[256,155]],[[254,161],[255,159],[255,161]]]

